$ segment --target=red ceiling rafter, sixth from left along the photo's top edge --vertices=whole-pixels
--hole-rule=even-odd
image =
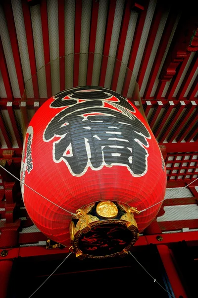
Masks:
[[[93,74],[93,67],[94,67],[94,52],[95,52],[95,46],[96,46],[98,15],[99,15],[99,1],[92,1],[89,54],[88,54],[88,63],[87,63],[87,86],[92,85],[92,74]]]

